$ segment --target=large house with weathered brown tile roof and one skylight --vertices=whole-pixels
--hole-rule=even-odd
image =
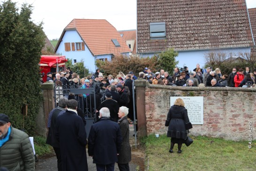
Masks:
[[[178,67],[193,70],[209,52],[255,46],[245,0],[137,0],[137,54],[173,48]]]

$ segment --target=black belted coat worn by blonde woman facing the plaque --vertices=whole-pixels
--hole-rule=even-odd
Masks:
[[[188,136],[185,123],[188,123],[188,111],[182,106],[171,106],[166,119],[167,137],[186,139]]]

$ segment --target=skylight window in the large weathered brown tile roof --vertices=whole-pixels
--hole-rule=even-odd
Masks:
[[[166,37],[166,22],[151,22],[150,37]]]

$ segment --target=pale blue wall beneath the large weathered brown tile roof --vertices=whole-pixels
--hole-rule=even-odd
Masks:
[[[204,55],[209,52],[224,52],[224,53],[233,53],[237,54],[239,52],[245,53],[250,52],[251,49],[249,47],[245,48],[237,48],[237,49],[221,49],[221,50],[202,50],[202,51],[180,51],[179,55],[176,57],[176,60],[179,61],[178,67],[187,66],[189,70],[193,70],[196,68],[196,64],[200,64],[202,68],[205,65]],[[152,57],[154,53],[143,53],[140,54],[142,57]],[[215,68],[214,68],[215,69]]]

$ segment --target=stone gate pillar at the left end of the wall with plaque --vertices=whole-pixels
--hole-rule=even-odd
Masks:
[[[136,87],[136,108],[137,108],[137,124],[138,136],[147,136],[146,113],[145,113],[145,87],[146,80],[138,78],[135,80]]]

